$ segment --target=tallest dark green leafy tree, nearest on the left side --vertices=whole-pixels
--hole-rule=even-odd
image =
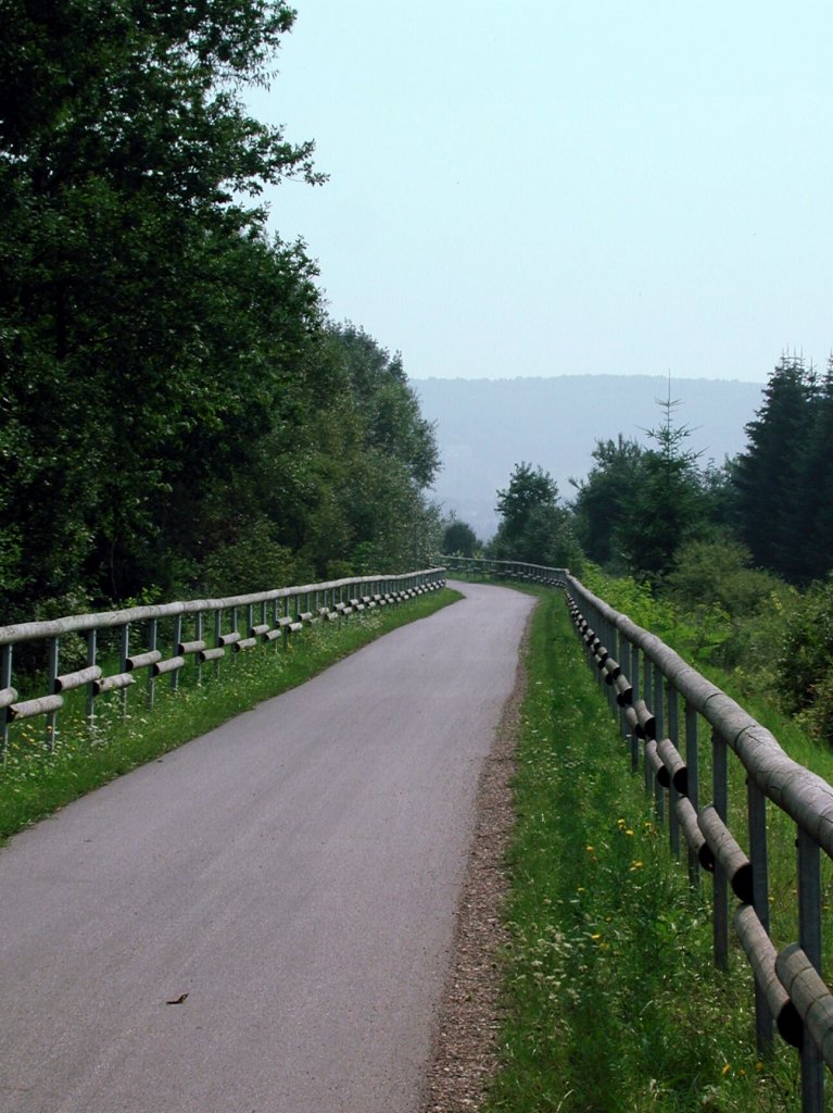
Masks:
[[[189,446],[210,431],[217,451],[229,423],[257,422],[315,301],[308,264],[266,243],[252,203],[282,176],[316,180],[311,145],[251,119],[239,95],[266,80],[294,13],[264,0],[0,11],[0,418],[13,444],[0,552],[26,595],[82,573],[118,593],[136,585],[142,542],[150,556]]]

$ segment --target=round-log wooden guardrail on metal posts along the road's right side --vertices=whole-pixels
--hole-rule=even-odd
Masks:
[[[506,579],[504,569],[486,567],[496,563],[447,558],[449,572],[465,569]],[[822,977],[821,855],[833,859],[833,787],[794,761],[768,730],[660,638],[566,570],[522,565],[522,580],[549,582],[565,591],[588,663],[627,742],[632,768],[643,771],[660,820],[665,823],[667,816],[672,850],[680,853],[682,836],[692,880],[698,883],[703,874],[713,878],[715,965],[728,969],[731,919],[754,973],[758,1050],[771,1050],[775,1030],[797,1047],[802,1113],[822,1113],[824,1064],[833,1070],[833,994]],[[742,776],[732,776],[731,757]],[[706,788],[701,772],[710,768]],[[740,800],[730,800],[733,782]],[[706,794],[711,799],[704,802]],[[770,924],[772,807],[786,817],[796,848],[797,940],[781,949]],[[792,835],[786,837],[792,841]],[[735,902],[731,917],[730,895]]]

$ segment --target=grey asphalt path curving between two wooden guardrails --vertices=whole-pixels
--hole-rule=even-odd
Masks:
[[[419,1109],[532,605],[458,587],[0,850],[2,1113]]]

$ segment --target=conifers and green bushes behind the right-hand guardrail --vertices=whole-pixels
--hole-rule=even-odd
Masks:
[[[807,752],[832,749],[833,357],[820,375],[782,355],[746,449],[722,465],[690,449],[671,384],[658,405],[645,443],[596,442],[566,503],[541,466],[517,464],[496,492],[495,538],[478,542],[455,521],[446,552],[569,568],[720,687],[754,701],[779,737],[790,723]]]

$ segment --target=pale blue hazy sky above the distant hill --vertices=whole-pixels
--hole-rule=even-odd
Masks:
[[[764,381],[833,347],[831,0],[296,0],[257,115],[337,321],[408,374]]]

